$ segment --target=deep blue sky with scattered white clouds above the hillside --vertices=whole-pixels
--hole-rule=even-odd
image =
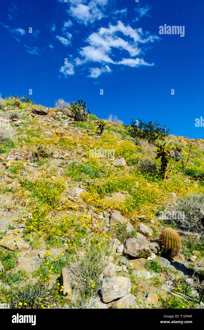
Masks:
[[[2,97],[32,89],[48,107],[82,99],[100,118],[158,120],[204,137],[195,127],[204,118],[202,1],[66,1],[1,1]],[[160,34],[164,24],[185,35]]]

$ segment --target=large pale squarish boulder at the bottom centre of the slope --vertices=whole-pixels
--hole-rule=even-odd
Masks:
[[[122,276],[104,278],[102,281],[102,299],[104,303],[122,298],[131,290],[130,279]]]

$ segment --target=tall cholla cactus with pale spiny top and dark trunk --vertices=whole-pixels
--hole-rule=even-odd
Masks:
[[[168,156],[168,150],[172,150],[174,149],[174,145],[173,142],[167,142],[167,141],[160,141],[160,140],[156,140],[155,141],[155,145],[157,146],[157,157],[155,157],[156,159],[158,159],[159,157],[161,157],[161,166],[160,166],[160,172],[162,175],[162,180],[166,178],[166,173],[171,171],[171,167],[168,165],[168,160],[166,159],[166,156]]]

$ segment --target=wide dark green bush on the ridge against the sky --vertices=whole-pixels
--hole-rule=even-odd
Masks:
[[[146,139],[150,143],[169,135],[169,129],[166,126],[160,126],[157,121],[153,124],[152,121],[148,123],[142,122],[140,119],[131,119],[131,128],[129,134],[133,138]]]

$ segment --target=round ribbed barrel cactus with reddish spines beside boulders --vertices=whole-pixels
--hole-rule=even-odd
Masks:
[[[160,232],[159,246],[163,254],[168,255],[170,258],[176,256],[181,246],[181,239],[178,232],[171,227],[162,229]]]

